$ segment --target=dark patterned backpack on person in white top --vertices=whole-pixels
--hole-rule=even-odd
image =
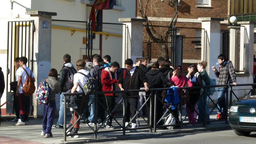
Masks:
[[[83,86],[83,88],[79,85],[79,87],[83,90],[84,95],[93,95],[95,94],[97,90],[97,80],[93,78],[92,76],[87,76],[86,74],[83,74],[81,72],[78,72],[79,74],[84,75],[87,77],[87,83]]]

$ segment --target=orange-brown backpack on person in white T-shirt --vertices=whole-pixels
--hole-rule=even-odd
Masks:
[[[25,96],[30,97],[35,92],[35,82],[32,81],[32,71],[30,71],[30,76],[29,76],[26,69],[24,67],[22,67],[22,68],[28,75],[28,79],[26,80],[26,83],[22,87],[22,92]]]

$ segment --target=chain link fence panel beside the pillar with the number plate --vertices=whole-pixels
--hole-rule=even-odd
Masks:
[[[65,54],[76,68],[76,61],[86,55],[87,22],[52,20],[51,28],[51,68],[60,72]]]

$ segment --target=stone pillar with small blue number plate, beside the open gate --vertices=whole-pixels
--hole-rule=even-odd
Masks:
[[[34,50],[33,72],[35,76],[35,87],[48,76],[51,69],[51,16],[56,16],[57,13],[43,11],[26,11],[26,15],[30,15],[30,19],[34,20]],[[43,115],[42,108],[33,98],[34,112],[33,115]]]

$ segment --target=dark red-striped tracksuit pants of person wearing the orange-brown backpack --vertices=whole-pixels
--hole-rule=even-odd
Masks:
[[[23,93],[19,94],[19,119],[26,122],[29,118],[30,110],[30,97],[25,96]]]

